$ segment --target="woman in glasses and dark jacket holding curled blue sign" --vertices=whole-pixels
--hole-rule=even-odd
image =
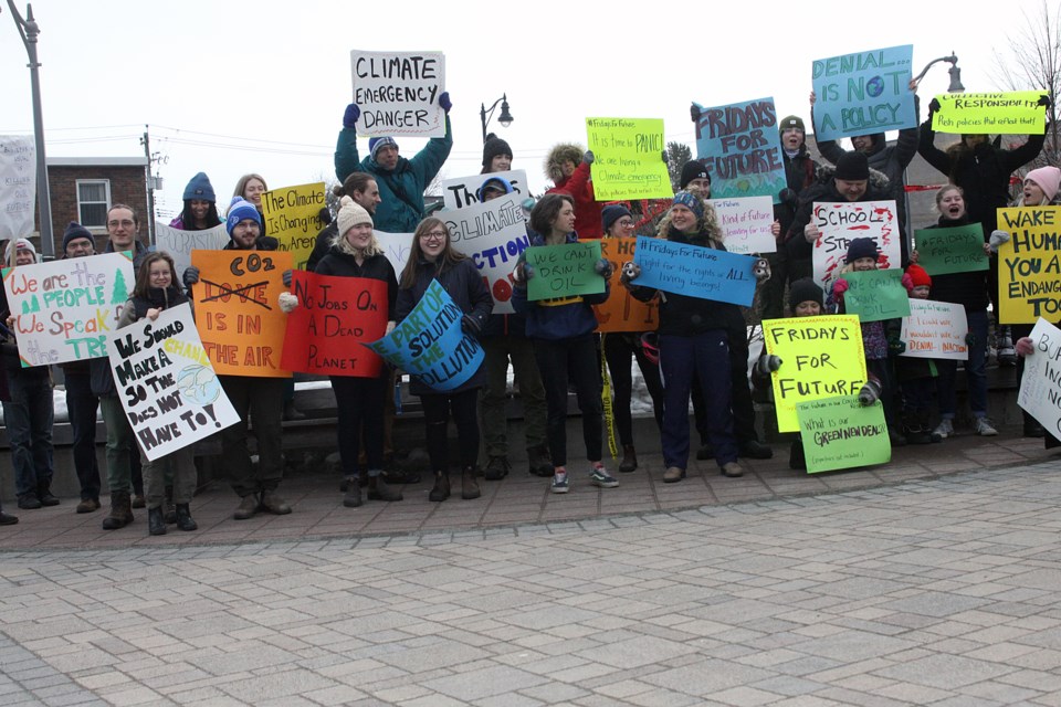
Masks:
[[[464,334],[477,338],[494,307],[494,298],[472,260],[453,249],[445,222],[431,217],[421,221],[413,233],[412,250],[401,272],[398,300],[395,305],[397,323],[400,324],[409,316],[435,279],[464,313],[461,318]],[[485,382],[486,371],[482,365],[468,380],[447,391],[433,390],[418,378],[412,378],[409,391],[420,395],[423,405],[428,455],[434,471],[434,487],[428,497],[433,502],[450,497],[447,424],[451,414],[456,423],[460,446],[461,498],[468,500],[481,495],[479,482],[475,479],[475,461],[479,456],[475,405],[479,389]]]

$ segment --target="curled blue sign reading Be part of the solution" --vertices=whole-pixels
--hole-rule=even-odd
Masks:
[[[370,349],[420,379],[447,391],[460,388],[483,362],[483,348],[461,329],[464,313],[439,281],[388,336],[366,344]]]

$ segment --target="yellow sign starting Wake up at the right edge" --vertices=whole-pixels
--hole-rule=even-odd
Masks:
[[[1010,240],[998,249],[999,321],[1032,324],[1061,315],[1061,207],[999,209]]]

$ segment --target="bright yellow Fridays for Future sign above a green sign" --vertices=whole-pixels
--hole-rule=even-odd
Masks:
[[[770,373],[780,432],[799,429],[796,403],[858,395],[865,382],[862,329],[855,316],[767,319],[763,337],[767,352],[781,359],[781,368]]]

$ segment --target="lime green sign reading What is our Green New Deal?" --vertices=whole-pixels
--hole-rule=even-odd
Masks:
[[[881,401],[863,407],[854,395],[810,400],[797,404],[796,414],[808,474],[892,461]]]

